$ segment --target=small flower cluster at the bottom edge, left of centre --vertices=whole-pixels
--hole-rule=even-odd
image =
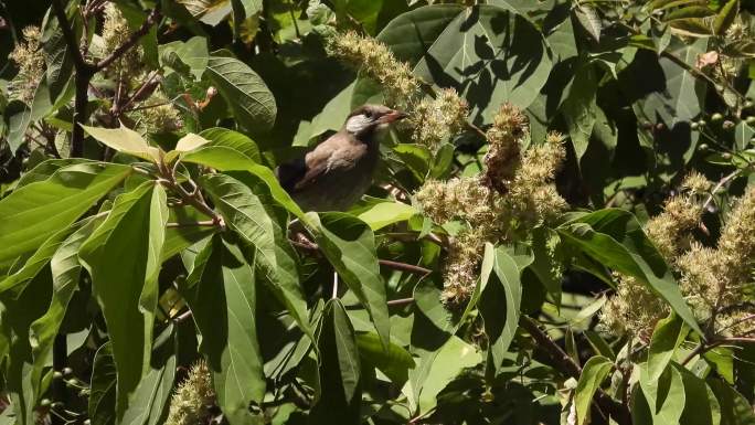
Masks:
[[[210,370],[204,361],[199,361],[171,397],[166,425],[206,424],[214,402]]]

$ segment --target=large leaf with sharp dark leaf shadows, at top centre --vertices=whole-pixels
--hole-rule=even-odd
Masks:
[[[456,87],[485,120],[506,102],[529,106],[551,71],[542,33],[496,6],[417,8],[391,21],[378,40],[419,78]]]

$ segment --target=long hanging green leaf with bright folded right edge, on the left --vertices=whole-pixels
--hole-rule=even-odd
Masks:
[[[126,192],[82,245],[78,257],[92,276],[118,373],[117,414],[149,371],[157,277],[168,221],[166,192],[148,181]]]

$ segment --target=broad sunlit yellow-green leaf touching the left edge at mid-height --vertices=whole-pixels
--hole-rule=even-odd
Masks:
[[[67,227],[130,174],[120,164],[63,167],[0,200],[0,264],[36,249]]]

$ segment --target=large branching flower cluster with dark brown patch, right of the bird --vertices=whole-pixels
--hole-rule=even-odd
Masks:
[[[446,258],[443,300],[449,308],[464,306],[474,291],[486,242],[511,242],[523,225],[542,224],[566,208],[553,184],[566,155],[561,136],[549,135],[544,144],[522,152],[527,132],[521,111],[502,107],[488,131],[485,172],[427,181],[416,193],[434,222],[459,220],[466,224],[451,238]],[[499,190],[501,185],[508,187],[508,192]]]

